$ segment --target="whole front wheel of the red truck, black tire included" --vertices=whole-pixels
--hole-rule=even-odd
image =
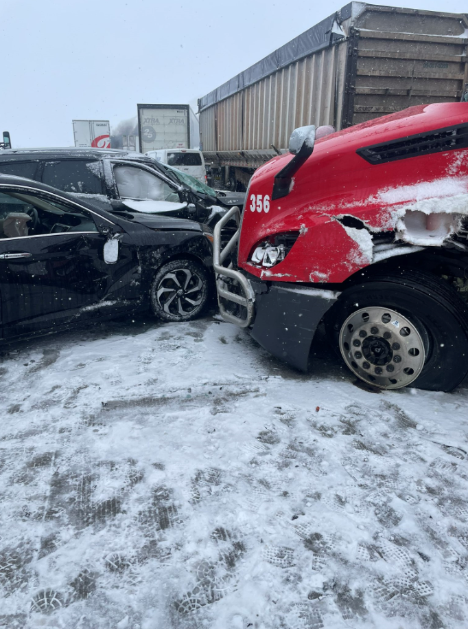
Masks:
[[[430,274],[407,269],[350,287],[325,325],[351,371],[379,388],[450,391],[468,372],[467,306]]]

